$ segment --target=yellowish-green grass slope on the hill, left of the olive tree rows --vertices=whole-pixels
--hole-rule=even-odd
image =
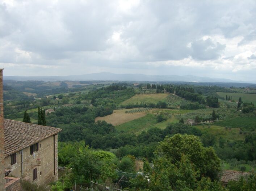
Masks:
[[[136,94],[130,99],[122,102],[120,105],[136,104],[136,103],[158,103],[164,101],[169,93],[156,93],[156,94]]]

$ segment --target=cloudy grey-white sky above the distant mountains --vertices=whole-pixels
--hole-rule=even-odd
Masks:
[[[256,81],[255,10],[255,0],[0,0],[0,67]]]

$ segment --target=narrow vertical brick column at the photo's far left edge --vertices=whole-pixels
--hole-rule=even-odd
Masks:
[[[4,99],[3,69],[0,69],[0,191],[4,191]]]

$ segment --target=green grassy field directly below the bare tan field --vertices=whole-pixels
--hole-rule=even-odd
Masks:
[[[143,130],[149,129],[155,124],[157,124],[156,116],[154,114],[147,114],[144,117],[117,125],[116,129],[119,131],[124,131],[128,133],[139,134]]]

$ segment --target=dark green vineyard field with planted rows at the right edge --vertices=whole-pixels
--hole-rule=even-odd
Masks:
[[[214,125],[228,126],[234,128],[241,128],[242,130],[248,130],[256,127],[256,117],[234,117],[230,119],[225,119],[222,121],[217,121]]]

